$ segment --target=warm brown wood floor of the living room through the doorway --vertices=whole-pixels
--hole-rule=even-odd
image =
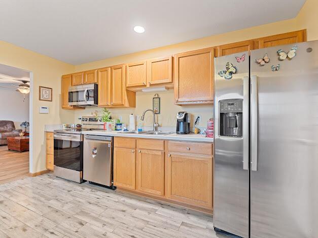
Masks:
[[[0,145],[0,184],[21,179],[29,173],[29,152],[8,151]]]

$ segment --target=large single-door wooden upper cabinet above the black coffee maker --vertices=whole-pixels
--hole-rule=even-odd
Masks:
[[[175,55],[175,104],[213,103],[214,48]]]

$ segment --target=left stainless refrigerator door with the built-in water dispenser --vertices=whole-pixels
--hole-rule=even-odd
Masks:
[[[238,63],[235,57],[243,54],[245,60]],[[227,62],[237,69],[231,79],[218,75],[220,71],[227,71]],[[249,65],[249,52],[215,58],[213,223],[215,228],[243,237],[248,237],[249,234]],[[232,129],[220,128],[224,126],[223,123],[231,124],[221,122],[221,111],[229,112],[229,117],[226,115],[224,120],[229,120],[230,117],[235,120],[235,114],[231,114],[232,107],[225,108],[227,102],[234,107],[242,103],[242,108],[237,108],[242,110],[242,133],[236,133],[242,136],[220,134],[220,131],[226,131],[223,133],[225,135],[233,133]],[[237,114],[236,119],[239,120],[240,116],[241,114]],[[232,122],[232,126],[234,125],[235,122]]]

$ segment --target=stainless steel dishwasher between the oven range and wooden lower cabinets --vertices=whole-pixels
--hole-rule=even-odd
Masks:
[[[114,189],[112,136],[84,136],[83,179]]]

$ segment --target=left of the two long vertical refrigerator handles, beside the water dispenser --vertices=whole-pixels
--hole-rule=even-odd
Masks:
[[[243,169],[249,170],[249,96],[250,78],[243,77]]]

